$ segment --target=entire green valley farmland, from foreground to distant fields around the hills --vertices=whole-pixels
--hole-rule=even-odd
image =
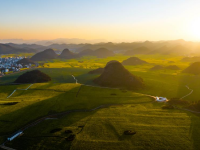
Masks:
[[[104,67],[110,60],[122,62],[128,56],[117,55],[99,59],[83,57],[77,60],[47,61],[39,69],[48,74],[49,83],[33,84],[28,90],[25,85],[0,86],[0,142],[9,134],[50,114],[68,110],[89,110],[100,105],[113,104],[91,112],[73,112],[58,119],[45,120],[25,130],[24,135],[7,146],[16,149],[180,149],[198,150],[200,146],[199,116],[183,110],[162,109],[163,103],[156,103],[145,94],[167,98],[182,97],[189,93],[185,85],[194,92],[185,98],[198,101],[199,75],[183,74],[181,71],[190,63],[183,57],[165,55],[140,55],[149,62],[146,65],[125,66],[131,73],[143,78],[145,88],[137,91],[93,87],[92,80],[99,76],[88,74],[90,70]],[[82,62],[80,62],[82,61]],[[149,71],[154,65],[172,65],[174,61],[181,70]],[[0,82],[13,82],[20,74],[7,75]],[[75,84],[71,75],[80,84]],[[86,84],[86,85],[82,85]],[[6,103],[18,102],[15,105]],[[114,105],[116,104],[116,105]],[[78,127],[83,126],[83,127]],[[61,131],[50,133],[52,129]],[[66,141],[72,130],[76,135],[72,142]],[[124,135],[125,130],[136,131],[135,135]],[[58,137],[53,137],[58,136]],[[50,146],[51,145],[51,146]]]

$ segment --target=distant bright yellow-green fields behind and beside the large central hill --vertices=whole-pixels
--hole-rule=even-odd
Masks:
[[[74,83],[72,74],[81,84],[94,85],[93,79],[99,74],[88,74],[89,71],[99,67],[104,67],[110,60],[123,60],[130,56],[116,55],[108,58],[82,57],[80,59],[70,60],[52,60],[46,61],[44,67],[39,69],[48,74],[52,78],[52,83]],[[138,58],[145,60],[148,64],[137,66],[125,66],[134,75],[143,78],[146,85],[145,89],[139,90],[140,93],[165,96],[168,98],[182,97],[189,93],[186,85],[194,90],[193,94],[188,96],[186,100],[198,101],[198,87],[200,86],[200,76],[181,73],[183,69],[190,65],[190,62],[182,62],[181,56],[173,55],[137,55]],[[173,61],[174,63],[169,63]],[[150,71],[155,65],[177,65],[180,70],[159,70]],[[9,83],[22,73],[7,75],[0,78],[0,83]]]

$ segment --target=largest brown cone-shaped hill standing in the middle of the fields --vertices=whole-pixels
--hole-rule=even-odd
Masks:
[[[110,61],[104,68],[104,72],[96,79],[94,83],[106,87],[121,87],[127,89],[143,88],[142,78],[131,74],[118,61]]]

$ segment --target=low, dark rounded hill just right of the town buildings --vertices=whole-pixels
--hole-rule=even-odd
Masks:
[[[33,70],[19,76],[15,83],[43,83],[48,81],[51,81],[51,78],[47,74],[40,70]]]

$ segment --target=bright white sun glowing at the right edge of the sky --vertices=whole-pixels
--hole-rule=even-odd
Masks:
[[[200,40],[200,17],[189,21],[188,32],[194,39]]]

